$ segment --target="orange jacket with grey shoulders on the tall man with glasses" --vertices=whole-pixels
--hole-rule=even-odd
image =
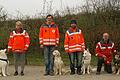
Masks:
[[[57,45],[59,44],[59,30],[58,26],[51,23],[51,25],[43,24],[40,27],[39,41],[41,45]]]

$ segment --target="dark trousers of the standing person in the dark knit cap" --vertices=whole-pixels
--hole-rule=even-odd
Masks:
[[[71,72],[75,73],[75,68],[77,68],[77,72],[81,72],[82,58],[83,58],[82,52],[68,53],[68,55],[70,59]]]

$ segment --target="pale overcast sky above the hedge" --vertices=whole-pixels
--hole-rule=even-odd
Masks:
[[[19,12],[23,15],[34,16],[43,11],[44,1],[47,2],[46,5],[52,2],[52,12],[54,12],[66,7],[81,6],[85,0],[0,0],[0,6],[4,7],[11,16],[17,16]]]

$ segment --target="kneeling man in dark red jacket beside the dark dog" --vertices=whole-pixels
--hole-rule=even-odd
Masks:
[[[112,73],[112,54],[116,53],[114,46],[114,43],[109,39],[109,34],[104,33],[102,40],[96,45],[96,56],[98,57],[97,75],[101,72],[102,64],[104,64],[104,70],[107,73]]]

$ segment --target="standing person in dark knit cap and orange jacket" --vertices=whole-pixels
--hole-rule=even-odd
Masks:
[[[71,27],[66,31],[64,48],[69,55],[71,75],[81,75],[83,51],[85,49],[84,37],[81,29],[77,27],[77,21],[71,20]]]

